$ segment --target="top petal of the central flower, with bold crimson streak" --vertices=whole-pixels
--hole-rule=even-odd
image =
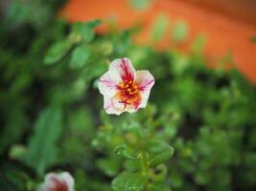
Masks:
[[[120,80],[134,80],[135,69],[128,58],[115,59],[109,65],[109,72],[115,76],[120,76]]]

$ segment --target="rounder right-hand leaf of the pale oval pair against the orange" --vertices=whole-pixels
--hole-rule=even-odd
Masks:
[[[179,21],[179,22],[175,23],[175,28],[174,28],[174,31],[173,31],[174,40],[176,42],[181,42],[181,41],[185,40],[187,35],[188,35],[187,25],[182,21]]]

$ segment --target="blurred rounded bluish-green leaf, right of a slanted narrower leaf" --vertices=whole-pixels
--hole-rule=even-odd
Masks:
[[[77,47],[71,54],[71,61],[69,67],[72,69],[79,69],[84,66],[90,56],[90,50],[86,45]]]

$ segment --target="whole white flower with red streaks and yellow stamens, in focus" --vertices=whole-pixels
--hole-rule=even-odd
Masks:
[[[99,82],[107,114],[133,113],[145,108],[154,78],[147,70],[135,71],[128,58],[115,59]]]

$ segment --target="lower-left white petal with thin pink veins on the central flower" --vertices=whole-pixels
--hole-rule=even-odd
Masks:
[[[125,112],[123,103],[120,103],[118,99],[114,97],[104,96],[104,109],[106,114],[120,115]]]

